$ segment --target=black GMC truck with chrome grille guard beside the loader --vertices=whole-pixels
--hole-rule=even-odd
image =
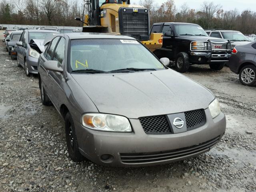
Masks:
[[[192,64],[209,64],[221,70],[231,56],[230,40],[209,37],[197,24],[155,23],[152,33],[163,33],[163,46],[154,51],[158,58],[175,61],[178,72],[186,72]]]

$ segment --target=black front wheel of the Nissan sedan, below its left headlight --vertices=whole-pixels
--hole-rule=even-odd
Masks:
[[[65,131],[68,154],[70,158],[74,162],[81,162],[83,160],[83,156],[79,151],[74,122],[69,112],[66,114],[65,118]]]

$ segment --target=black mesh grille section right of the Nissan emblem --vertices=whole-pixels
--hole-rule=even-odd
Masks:
[[[185,112],[187,130],[200,127],[205,123],[204,110],[193,110]]]

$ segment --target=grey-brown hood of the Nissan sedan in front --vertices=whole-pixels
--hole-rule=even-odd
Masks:
[[[128,118],[208,108],[213,94],[171,69],[126,74],[72,74],[101,113]]]

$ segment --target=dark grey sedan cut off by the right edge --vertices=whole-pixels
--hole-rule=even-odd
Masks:
[[[256,42],[236,46],[229,61],[232,72],[239,74],[240,82],[244,85],[256,85]]]

